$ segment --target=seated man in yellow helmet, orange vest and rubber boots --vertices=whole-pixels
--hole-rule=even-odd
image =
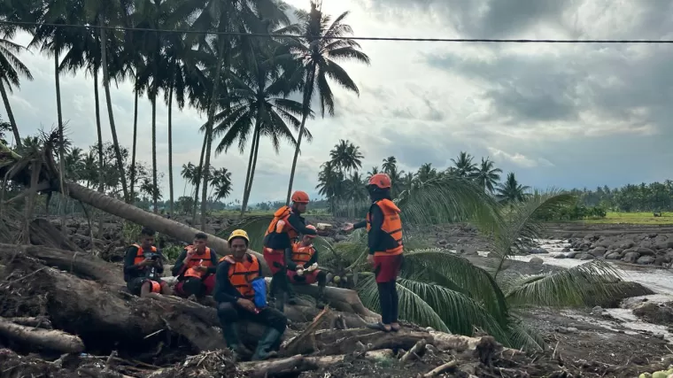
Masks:
[[[248,234],[242,229],[234,230],[228,244],[231,255],[220,259],[213,295],[218,302],[222,336],[236,354],[250,355],[238,337],[237,322],[247,320],[267,326],[252,360],[268,359],[280,347],[288,320],[282,312],[267,306],[267,282],[259,260],[247,253]]]

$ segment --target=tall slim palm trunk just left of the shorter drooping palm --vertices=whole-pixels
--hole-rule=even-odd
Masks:
[[[227,11],[226,6],[223,6],[220,11],[220,27],[228,22],[228,19],[225,18]],[[224,30],[223,30],[224,31]],[[201,228],[205,228],[205,212],[207,210],[207,196],[208,196],[208,181],[210,181],[210,156],[211,156],[211,147],[213,145],[213,122],[215,117],[215,108],[217,107],[217,99],[219,98],[220,90],[220,76],[222,74],[222,59],[225,57],[224,49],[226,46],[226,37],[224,35],[218,35],[218,52],[217,52],[217,66],[215,67],[215,80],[213,81],[213,92],[211,93],[210,104],[208,105],[208,120],[205,123],[205,160],[204,168],[201,171],[203,174],[203,188],[201,189]],[[227,54],[228,57],[228,54]],[[228,60],[228,58],[227,58]],[[228,70],[228,63],[227,63]]]

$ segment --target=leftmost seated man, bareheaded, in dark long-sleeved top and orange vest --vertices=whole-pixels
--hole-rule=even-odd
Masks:
[[[124,257],[124,281],[128,291],[140,297],[150,293],[170,295],[171,288],[161,281],[164,263],[161,251],[154,244],[154,230],[143,228],[140,231],[140,244],[130,245]]]

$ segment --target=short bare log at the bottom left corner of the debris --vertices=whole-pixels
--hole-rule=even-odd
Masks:
[[[0,336],[14,342],[29,344],[61,353],[80,353],[84,343],[77,336],[56,329],[31,328],[0,318]]]

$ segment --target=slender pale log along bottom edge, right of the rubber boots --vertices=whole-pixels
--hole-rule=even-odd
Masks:
[[[378,360],[391,358],[391,350],[368,351],[365,359]],[[280,374],[298,374],[309,370],[324,369],[334,366],[346,359],[346,354],[325,357],[303,357],[301,355],[292,356],[287,359],[274,359],[263,362],[244,362],[238,364],[239,369],[249,374],[251,378],[264,378]]]

